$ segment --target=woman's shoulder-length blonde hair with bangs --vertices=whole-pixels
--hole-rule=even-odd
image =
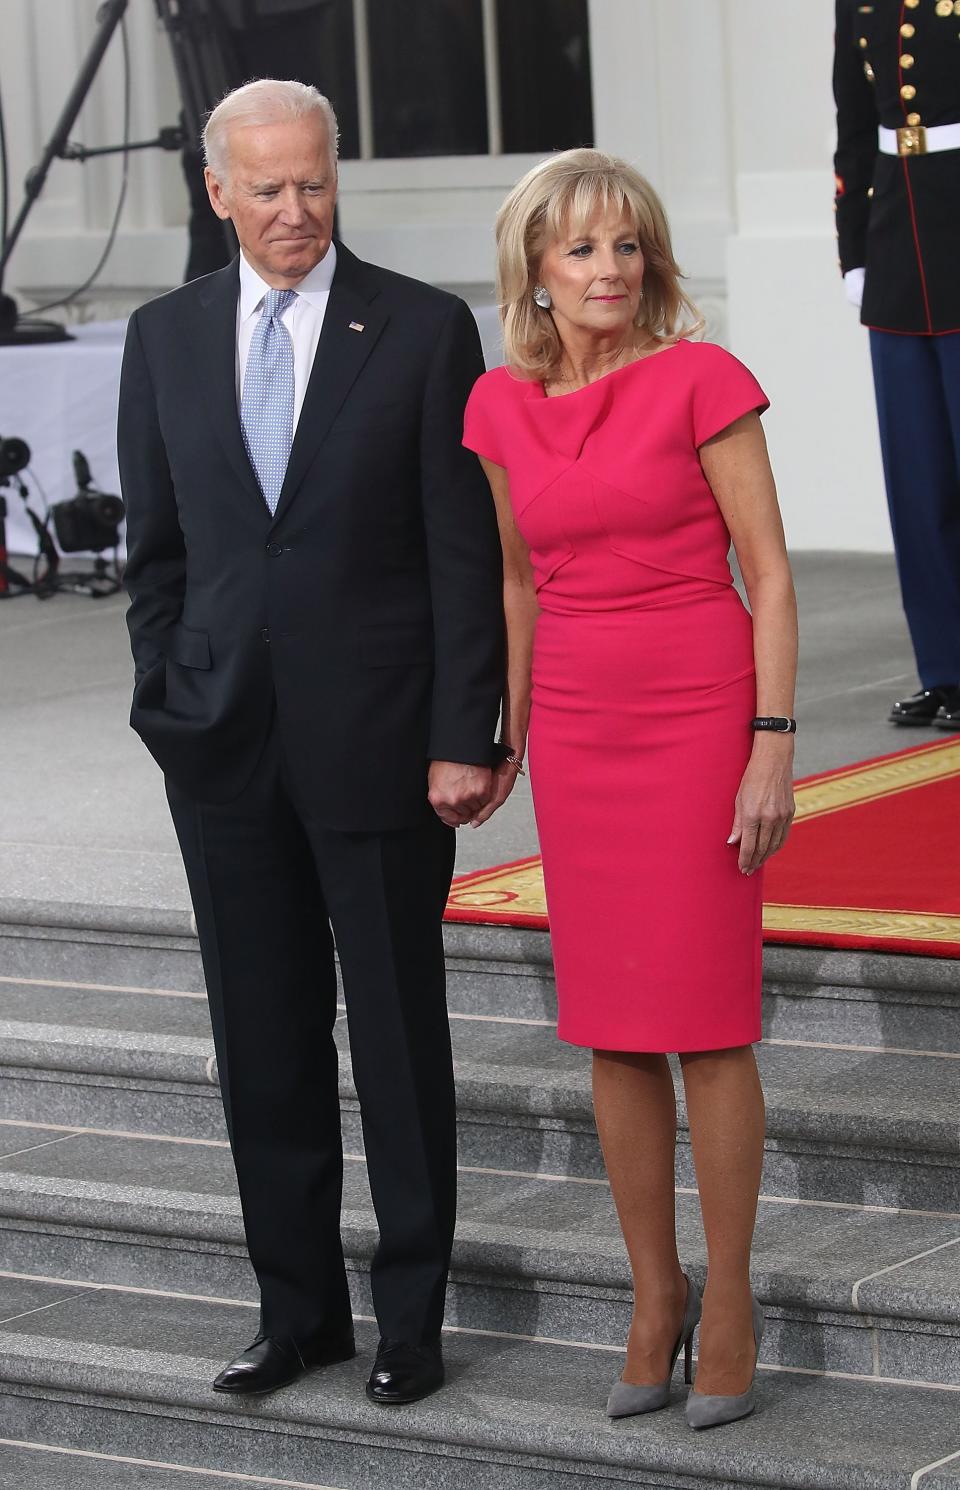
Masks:
[[[610,206],[631,215],[644,256],[635,326],[665,343],[704,329],[696,305],[680,288],[666,213],[650,182],[616,155],[562,150],[534,165],[496,215],[496,298],[504,353],[522,375],[550,378],[560,365],[553,316],[534,304],[544,250],[563,234],[581,232],[598,209],[605,212]]]

